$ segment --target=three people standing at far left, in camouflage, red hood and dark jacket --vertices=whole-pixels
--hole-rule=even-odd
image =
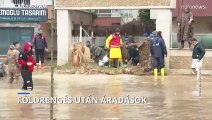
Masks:
[[[7,52],[5,64],[8,65],[9,83],[17,83],[21,74],[24,90],[33,90],[32,72],[41,59],[41,68],[44,69],[44,51],[48,51],[47,40],[40,28],[33,37],[31,44],[25,42],[23,51],[20,51],[20,43],[14,42]],[[36,60],[34,59],[34,52]]]

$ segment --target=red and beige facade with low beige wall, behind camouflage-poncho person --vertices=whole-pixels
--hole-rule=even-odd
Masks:
[[[170,58],[170,69],[188,74],[191,67],[191,50],[178,50],[177,42],[177,16],[182,14],[185,7],[189,7],[194,15],[194,37],[205,47],[206,54],[203,62],[203,74],[210,74],[212,70],[212,1],[211,0],[177,0],[176,9],[173,10],[173,27]],[[187,45],[187,44],[186,44]],[[176,73],[177,73],[176,72]]]

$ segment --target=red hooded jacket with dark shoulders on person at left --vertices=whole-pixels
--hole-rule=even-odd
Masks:
[[[31,48],[31,50],[30,50],[30,48]],[[32,65],[28,66],[27,62],[31,62]],[[29,72],[33,72],[36,62],[32,55],[31,43],[29,43],[29,42],[24,43],[24,52],[20,53],[18,63],[20,64],[21,70],[28,70]]]

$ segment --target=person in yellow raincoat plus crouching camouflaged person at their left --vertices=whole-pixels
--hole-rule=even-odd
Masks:
[[[100,66],[108,65],[110,67],[122,66],[122,47],[123,41],[120,35],[120,29],[117,28],[114,34],[111,34],[107,40],[105,48],[90,45],[87,41],[87,47],[90,48],[91,59],[98,63]],[[108,63],[108,64],[107,64]]]

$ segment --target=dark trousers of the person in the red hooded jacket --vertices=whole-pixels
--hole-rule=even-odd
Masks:
[[[32,81],[32,72],[27,70],[21,71],[21,76],[23,78],[23,87],[24,90],[33,90],[33,81]]]

